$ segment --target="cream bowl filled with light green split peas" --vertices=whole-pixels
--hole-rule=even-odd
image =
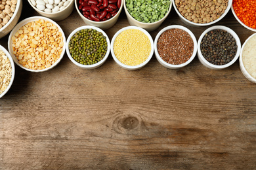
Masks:
[[[130,25],[154,31],[163,23],[171,11],[171,0],[132,1],[123,0],[125,14]]]

